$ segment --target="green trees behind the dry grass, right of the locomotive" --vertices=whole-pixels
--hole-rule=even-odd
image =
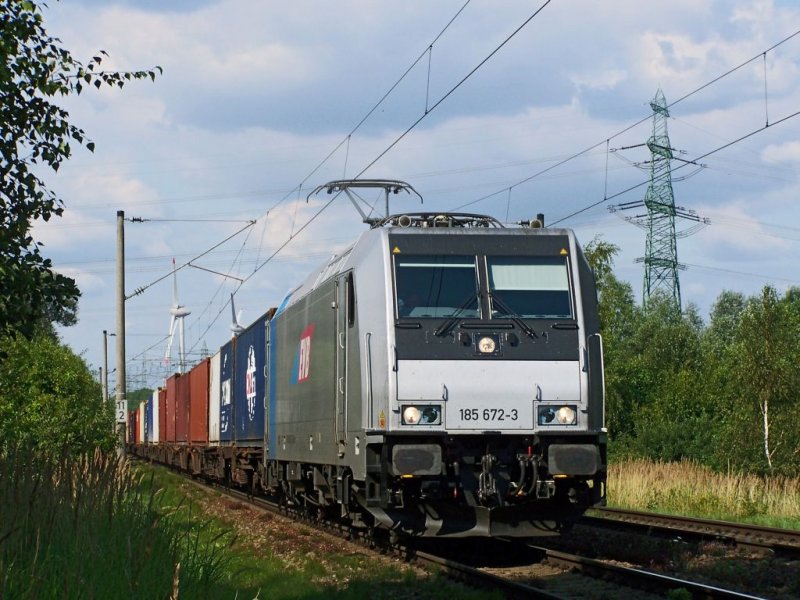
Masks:
[[[678,312],[665,296],[636,306],[614,276],[616,252],[597,239],[585,251],[598,282],[612,457],[800,472],[800,289],[722,292],[705,326],[696,308]]]

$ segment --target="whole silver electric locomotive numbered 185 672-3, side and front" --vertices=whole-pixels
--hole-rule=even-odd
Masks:
[[[604,503],[597,297],[572,231],[371,225],[267,315],[255,481],[417,536],[556,534]]]

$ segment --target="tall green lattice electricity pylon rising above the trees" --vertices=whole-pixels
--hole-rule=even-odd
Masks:
[[[650,150],[650,185],[647,187],[644,200],[618,204],[609,209],[612,212],[641,207],[647,209],[645,214],[626,217],[627,221],[647,231],[645,255],[636,260],[644,263],[642,306],[646,310],[650,298],[661,289],[672,299],[675,308],[680,310],[681,285],[678,271],[686,267],[678,262],[677,238],[691,235],[703,225],[707,225],[709,220],[697,216],[693,210],[675,206],[675,196],[672,191],[672,160],[676,158],[667,132],[669,109],[660,88],[650,102],[650,107],[653,109],[653,135],[647,140],[647,147]],[[676,218],[695,221],[696,225],[688,230],[676,232]]]

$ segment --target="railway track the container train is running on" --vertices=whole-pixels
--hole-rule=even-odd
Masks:
[[[187,476],[196,485],[211,487],[238,502],[291,518],[329,534],[360,543],[383,554],[413,561],[428,570],[446,574],[471,587],[501,593],[507,598],[579,599],[622,597],[639,600],[664,597],[673,590],[685,590],[691,598],[729,598],[751,600],[758,596],[722,589],[708,584],[687,581],[641,569],[622,567],[562,551],[544,548],[518,540],[480,540],[473,542],[476,551],[467,550],[464,541],[435,544],[429,541],[409,543],[375,539],[364,530],[353,530],[336,523],[321,522],[313,515],[294,511],[264,498],[253,497],[239,490],[208,484]],[[489,563],[486,564],[487,557]],[[498,566],[498,563],[501,566]],[[509,567],[508,564],[513,563]]]

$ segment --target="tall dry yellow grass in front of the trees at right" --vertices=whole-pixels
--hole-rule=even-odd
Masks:
[[[633,510],[800,528],[800,478],[717,473],[692,461],[610,466],[609,504]]]

